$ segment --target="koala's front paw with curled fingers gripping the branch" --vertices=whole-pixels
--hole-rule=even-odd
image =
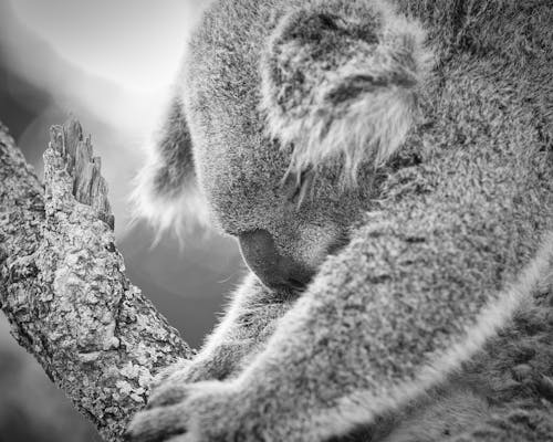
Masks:
[[[137,413],[126,434],[133,442],[215,442],[248,438],[239,391],[231,382],[201,381],[165,388]]]

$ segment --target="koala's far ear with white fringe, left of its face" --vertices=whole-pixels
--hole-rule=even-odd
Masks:
[[[165,124],[150,145],[131,196],[134,220],[144,218],[159,233],[173,230],[179,239],[197,227],[209,225],[180,95],[173,98]]]

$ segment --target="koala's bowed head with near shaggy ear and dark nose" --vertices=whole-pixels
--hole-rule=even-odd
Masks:
[[[377,1],[250,3],[207,12],[179,96],[211,220],[267,286],[302,290],[374,203],[431,57]]]

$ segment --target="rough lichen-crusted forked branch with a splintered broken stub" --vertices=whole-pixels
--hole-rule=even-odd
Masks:
[[[43,186],[0,124],[0,307],[18,343],[117,441],[153,376],[192,350],[125,276],[100,168],[69,122],[51,129]]]

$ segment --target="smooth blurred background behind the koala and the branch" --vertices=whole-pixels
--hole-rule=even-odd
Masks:
[[[154,245],[126,202],[164,112],[200,0],[0,0],[0,120],[39,176],[49,127],[76,116],[109,185],[127,274],[198,347],[243,274],[233,240],[207,232]],[[0,442],[98,441],[19,348],[0,314]]]

